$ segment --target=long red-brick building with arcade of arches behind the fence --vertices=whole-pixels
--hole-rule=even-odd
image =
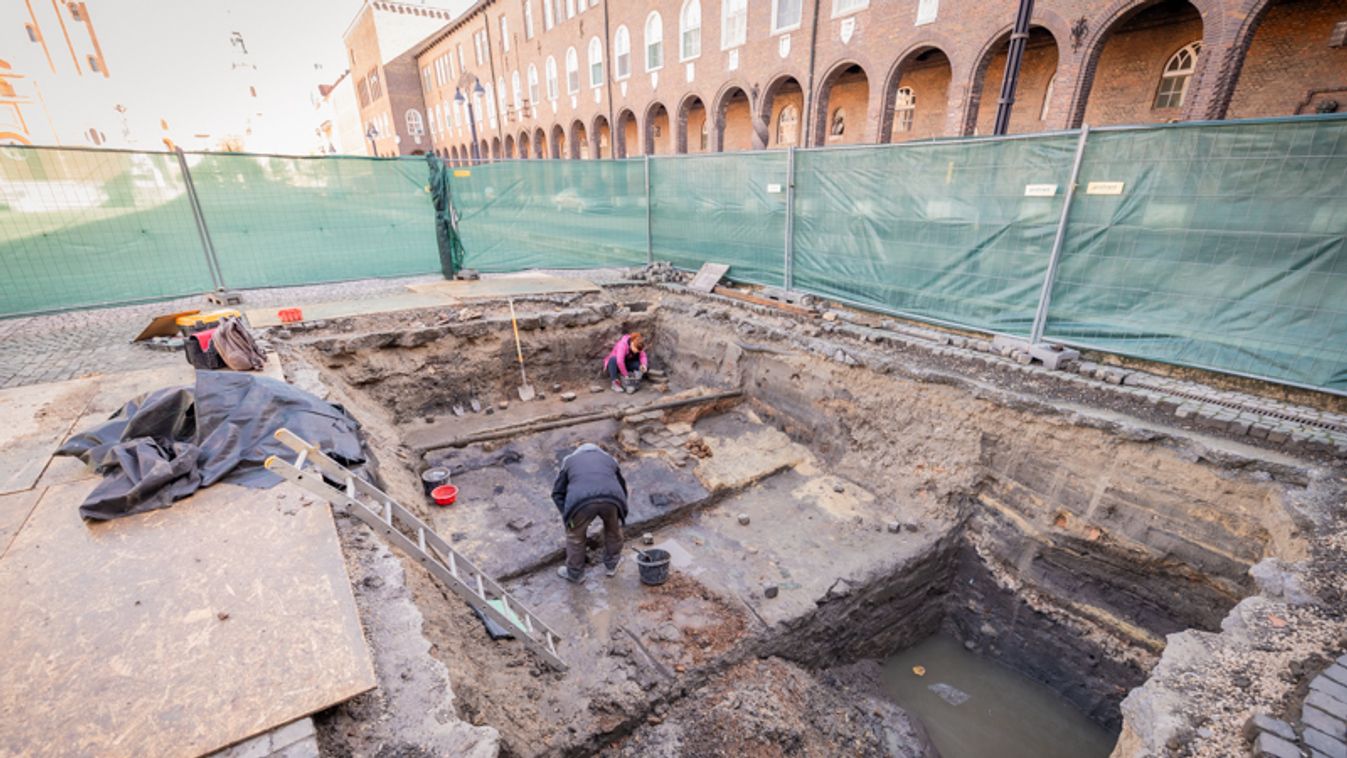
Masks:
[[[408,54],[454,162],[902,141],[990,133],[1016,8],[481,0]],[[1334,110],[1344,38],[1347,0],[1037,0],[1010,131]]]

